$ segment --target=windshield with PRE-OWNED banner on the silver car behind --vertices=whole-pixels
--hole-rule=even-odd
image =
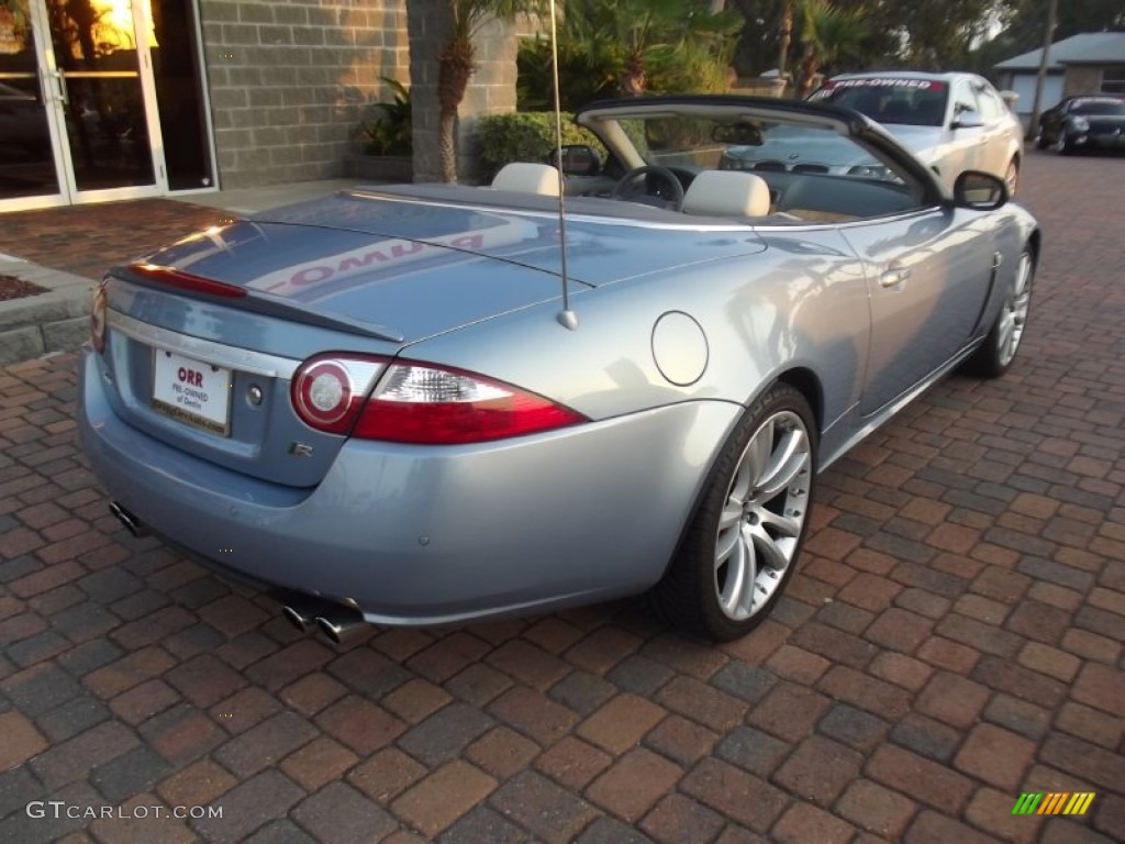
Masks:
[[[830,80],[809,99],[854,108],[879,123],[940,126],[948,93],[939,81],[871,77]]]

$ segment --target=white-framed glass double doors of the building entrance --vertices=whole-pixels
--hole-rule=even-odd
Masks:
[[[163,192],[151,17],[134,16],[129,0],[0,0],[0,9],[18,21],[6,42],[0,12],[0,69],[12,65],[0,82],[12,102],[21,98],[7,128],[0,113],[0,150],[15,151],[0,160],[0,210]]]

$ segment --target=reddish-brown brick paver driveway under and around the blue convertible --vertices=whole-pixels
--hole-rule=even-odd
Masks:
[[[11,367],[0,841],[1119,839],[1125,161],[1032,152],[1023,190],[1046,255],[1015,369],[827,473],[775,620],[721,648],[627,601],[334,649],[130,540],[74,358]]]

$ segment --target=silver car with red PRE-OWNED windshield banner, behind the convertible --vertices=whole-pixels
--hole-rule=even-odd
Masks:
[[[847,106],[886,127],[953,185],[965,170],[1004,177],[1015,195],[1024,129],[992,84],[972,73],[850,73],[834,77],[810,99]]]

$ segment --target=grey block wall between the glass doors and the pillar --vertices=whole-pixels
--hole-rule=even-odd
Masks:
[[[405,0],[199,0],[219,183],[343,174],[363,107],[410,83]]]

